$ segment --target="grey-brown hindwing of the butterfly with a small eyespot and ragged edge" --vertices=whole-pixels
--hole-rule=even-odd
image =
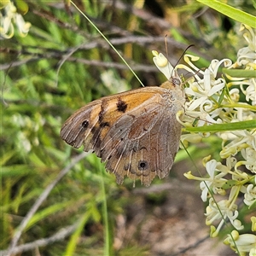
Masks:
[[[156,99],[159,97],[159,99]],[[106,161],[106,168],[116,174],[118,183],[124,176],[140,178],[149,185],[157,174],[156,148],[151,141],[151,130],[164,116],[165,106],[161,105],[160,95],[154,94],[154,101],[148,99],[138,108],[124,113],[110,128],[96,154]]]

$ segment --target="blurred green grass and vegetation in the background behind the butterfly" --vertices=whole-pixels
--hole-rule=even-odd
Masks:
[[[188,44],[195,44],[189,52],[201,56],[200,67],[207,67],[214,58],[236,60],[236,51],[243,44],[237,35],[238,22],[195,1],[75,3],[113,40],[145,85],[165,80],[153,65],[151,50],[165,54],[166,35],[172,64]],[[96,98],[141,86],[73,6],[61,1],[26,4],[24,19],[32,24],[27,36],[22,38],[15,31],[13,38],[1,40],[2,250],[9,247],[15,229],[38,196],[82,152],[59,136],[67,117]],[[233,7],[248,13],[253,9],[250,1],[239,4]],[[131,11],[132,6],[139,10]],[[204,155],[207,150],[211,154],[209,148]],[[202,152],[192,148],[191,154],[200,159]],[[177,160],[184,158],[183,153],[177,155]],[[170,181],[154,180],[156,184],[165,182]],[[19,244],[54,236],[77,224],[65,239],[55,241],[55,246],[39,247],[40,253],[149,255],[150,245],[140,244],[139,238],[122,246],[113,243],[116,218],[126,216],[127,206],[133,203],[132,186],[127,178],[118,186],[100,160],[88,154],[52,189],[27,224]]]

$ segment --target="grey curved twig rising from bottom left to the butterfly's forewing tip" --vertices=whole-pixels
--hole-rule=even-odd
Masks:
[[[83,152],[82,154],[79,154],[77,156],[75,156],[73,158],[73,160],[71,161],[71,163],[65,167],[64,169],[61,170],[61,172],[59,173],[59,175],[55,178],[55,180],[50,183],[46,189],[44,189],[44,192],[38,197],[38,200],[35,201],[34,205],[31,207],[30,211],[26,213],[26,217],[23,218],[23,220],[20,223],[20,226],[17,228],[16,232],[15,232],[15,236],[13,237],[10,246],[9,246],[9,250],[7,255],[10,256],[12,253],[14,253],[14,249],[17,245],[17,242],[20,239],[20,236],[23,232],[23,230],[26,229],[26,225],[28,224],[28,222],[31,220],[32,216],[34,215],[35,212],[37,212],[38,207],[41,206],[41,204],[43,203],[43,201],[47,198],[47,196],[49,195],[49,192],[54,189],[55,185],[61,180],[62,177],[64,177],[67,172],[69,172],[69,170],[79,162],[79,160],[82,160],[88,153]]]

